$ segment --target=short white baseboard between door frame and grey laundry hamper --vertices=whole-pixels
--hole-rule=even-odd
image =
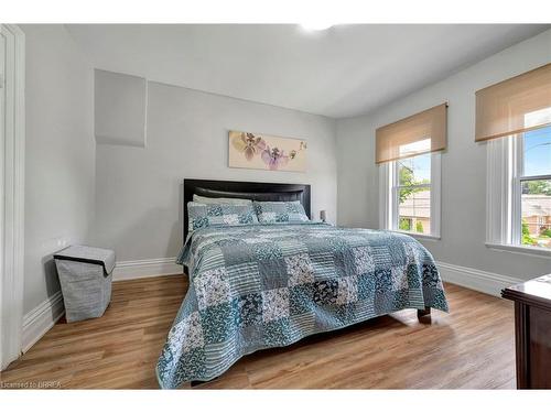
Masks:
[[[22,351],[26,352],[65,314],[63,295],[58,291],[23,317]]]

